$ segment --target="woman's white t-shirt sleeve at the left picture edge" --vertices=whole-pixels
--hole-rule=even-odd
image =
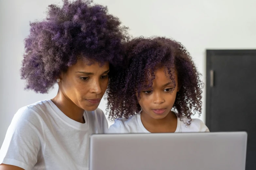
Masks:
[[[23,107],[14,115],[0,150],[0,164],[30,170],[37,163],[44,135],[42,120],[33,108]]]

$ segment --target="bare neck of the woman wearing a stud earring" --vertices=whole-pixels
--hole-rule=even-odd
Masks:
[[[77,122],[84,123],[83,122],[84,110],[78,107],[62,92],[58,91],[57,95],[51,100],[67,117]]]

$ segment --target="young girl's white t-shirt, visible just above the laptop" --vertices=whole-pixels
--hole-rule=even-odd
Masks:
[[[175,132],[209,132],[207,126],[200,119],[192,119],[187,125],[189,119],[180,117],[177,119],[177,128]],[[136,114],[128,119],[118,118],[109,128],[108,133],[150,133],[143,126],[141,114]]]

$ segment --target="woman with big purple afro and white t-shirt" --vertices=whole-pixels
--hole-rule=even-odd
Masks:
[[[21,77],[26,89],[51,100],[22,107],[15,114],[0,150],[0,170],[88,169],[89,136],[105,133],[98,109],[111,67],[122,60],[127,27],[90,1],[50,5],[47,18],[30,23]],[[110,79],[111,81],[111,79]]]

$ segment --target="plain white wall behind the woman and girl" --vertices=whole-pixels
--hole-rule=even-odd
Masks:
[[[255,0],[95,0],[129,26],[134,36],[160,35],[180,41],[191,53],[205,80],[206,49],[255,49]],[[0,0],[0,146],[15,112],[50,99],[23,90],[19,69],[29,21],[45,16],[47,5],[60,0]],[[106,102],[100,108],[105,111]],[[205,92],[203,97],[205,120]]]

